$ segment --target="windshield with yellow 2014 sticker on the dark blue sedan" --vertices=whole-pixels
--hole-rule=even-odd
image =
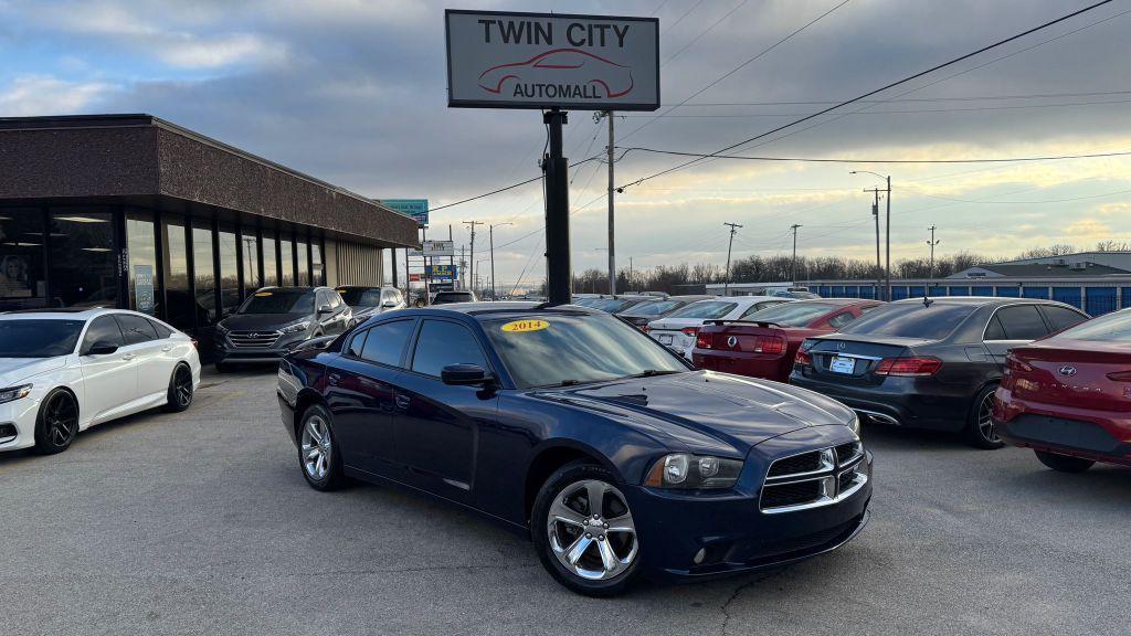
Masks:
[[[655,341],[607,315],[495,318],[484,320],[483,329],[523,388],[688,370]]]

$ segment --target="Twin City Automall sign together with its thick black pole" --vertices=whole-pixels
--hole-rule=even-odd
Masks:
[[[551,303],[567,303],[572,273],[566,110],[658,109],[659,20],[454,9],[444,20],[449,106],[544,111],[547,292]]]

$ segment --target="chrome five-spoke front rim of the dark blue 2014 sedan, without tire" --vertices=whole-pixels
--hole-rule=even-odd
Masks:
[[[628,571],[637,557],[636,524],[620,490],[599,480],[563,488],[546,518],[550,547],[570,573],[607,581]]]

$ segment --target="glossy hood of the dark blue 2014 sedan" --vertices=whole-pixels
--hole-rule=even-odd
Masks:
[[[603,383],[538,396],[605,414],[665,440],[673,450],[745,456],[798,429],[847,424],[847,407],[780,383],[689,371]]]

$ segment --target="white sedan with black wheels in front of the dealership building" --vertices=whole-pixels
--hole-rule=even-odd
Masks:
[[[0,315],[0,452],[61,453],[94,424],[156,406],[184,411],[199,384],[192,338],[144,313]]]

